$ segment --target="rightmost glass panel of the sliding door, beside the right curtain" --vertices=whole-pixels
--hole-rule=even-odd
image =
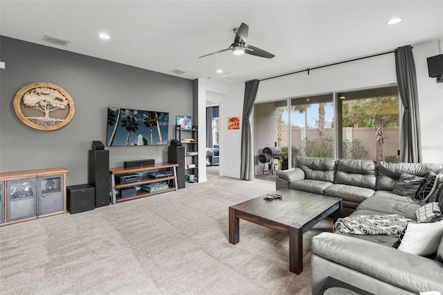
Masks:
[[[397,161],[399,150],[399,96],[397,87],[338,94],[341,105],[343,159]]]

